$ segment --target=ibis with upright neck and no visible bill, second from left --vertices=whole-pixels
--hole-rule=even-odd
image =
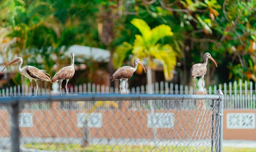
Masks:
[[[67,82],[69,81],[69,79],[71,79],[74,74],[75,74],[75,68],[74,68],[74,53],[70,53],[70,56],[71,56],[71,64],[70,66],[67,66],[67,67],[63,67],[61,68],[53,77],[52,77],[52,84],[55,84],[56,82],[58,82],[58,80],[60,80],[61,84],[62,84],[62,81],[64,79],[66,79],[66,92],[67,92],[67,95],[68,94],[68,91],[67,91]],[[60,91],[61,91],[61,84],[60,84]],[[61,96],[62,96],[62,93],[61,93]]]

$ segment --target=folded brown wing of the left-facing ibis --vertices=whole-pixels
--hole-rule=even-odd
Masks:
[[[29,76],[31,76],[34,79],[38,79],[41,81],[51,81],[51,76],[48,73],[39,70],[38,68],[28,67],[26,69],[26,72],[29,74]]]

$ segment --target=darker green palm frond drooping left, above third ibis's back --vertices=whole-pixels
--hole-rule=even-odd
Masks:
[[[130,54],[129,52],[132,50],[133,46],[128,42],[123,42],[119,45],[115,52],[113,53],[112,63],[114,68],[119,68],[122,66],[125,58]]]

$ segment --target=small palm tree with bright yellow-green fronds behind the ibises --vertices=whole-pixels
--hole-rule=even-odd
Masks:
[[[121,67],[131,53],[134,55],[131,60],[134,58],[145,59],[147,64],[148,90],[149,93],[152,93],[152,70],[157,68],[159,62],[163,65],[165,79],[170,81],[173,78],[177,53],[173,51],[172,46],[169,44],[161,45],[157,43],[164,37],[172,36],[173,33],[168,25],[159,25],[151,29],[141,19],[133,19],[131,23],[139,29],[141,35],[135,35],[133,45],[123,42],[116,48],[113,54],[113,65],[116,65],[115,68]],[[142,71],[141,67],[139,71]]]

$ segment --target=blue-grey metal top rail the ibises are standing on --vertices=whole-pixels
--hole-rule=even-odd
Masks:
[[[219,95],[183,95],[183,94],[79,94],[71,96],[49,95],[37,97],[0,97],[0,104],[36,101],[120,101],[120,100],[188,100],[221,99]]]

